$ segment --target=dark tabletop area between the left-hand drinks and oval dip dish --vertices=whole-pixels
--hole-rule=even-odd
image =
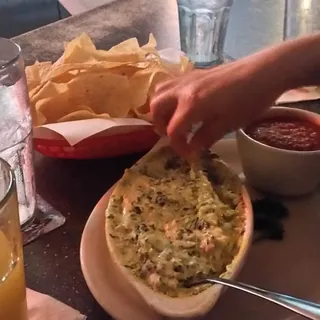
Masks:
[[[89,320],[110,319],[95,302],[83,279],[80,239],[95,204],[139,157],[68,161],[36,154],[37,191],[67,221],[60,229],[25,246],[28,287],[73,306],[88,315]]]

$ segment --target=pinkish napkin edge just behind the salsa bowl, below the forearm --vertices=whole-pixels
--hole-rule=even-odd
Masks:
[[[285,92],[276,104],[312,101],[320,99],[320,87],[303,87]]]

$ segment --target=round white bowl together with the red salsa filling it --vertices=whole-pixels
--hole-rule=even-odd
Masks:
[[[237,132],[243,172],[261,191],[298,196],[320,184],[320,115],[272,107]]]

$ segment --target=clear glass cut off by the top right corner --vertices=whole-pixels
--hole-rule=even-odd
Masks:
[[[320,30],[319,0],[286,0],[283,39]]]

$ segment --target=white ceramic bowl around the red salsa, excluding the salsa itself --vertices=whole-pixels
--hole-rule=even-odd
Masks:
[[[320,115],[295,108],[272,107],[259,119],[291,117],[320,127]],[[320,150],[291,151],[258,142],[240,129],[237,144],[248,183],[261,191],[298,196],[312,192],[320,183]]]

